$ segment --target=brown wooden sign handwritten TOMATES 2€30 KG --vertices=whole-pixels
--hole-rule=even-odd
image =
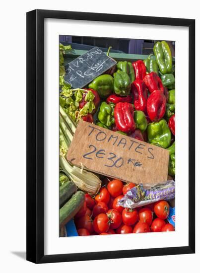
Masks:
[[[154,185],[167,180],[169,151],[81,120],[67,160],[108,177]]]

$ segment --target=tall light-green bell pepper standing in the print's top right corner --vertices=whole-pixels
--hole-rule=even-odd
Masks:
[[[172,72],[172,54],[167,42],[157,42],[153,47],[156,62],[162,74]]]

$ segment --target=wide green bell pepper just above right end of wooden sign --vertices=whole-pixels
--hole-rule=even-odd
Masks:
[[[162,148],[167,148],[171,142],[171,131],[164,119],[150,123],[147,127],[147,136],[151,144]]]

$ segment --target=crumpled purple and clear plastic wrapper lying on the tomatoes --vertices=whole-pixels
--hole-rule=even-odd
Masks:
[[[147,189],[139,184],[132,188],[119,200],[118,204],[123,207],[134,208],[142,205],[149,205],[159,200],[170,200],[175,198],[175,181],[169,180],[156,184]]]

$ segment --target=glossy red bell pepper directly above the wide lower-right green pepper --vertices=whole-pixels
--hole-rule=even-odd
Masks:
[[[162,91],[155,90],[147,99],[147,114],[152,122],[162,119],[166,109],[166,98]]]

